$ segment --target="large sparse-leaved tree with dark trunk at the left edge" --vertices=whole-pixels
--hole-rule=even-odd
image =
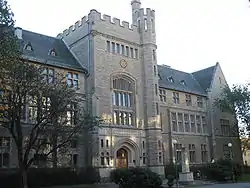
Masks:
[[[58,156],[69,152],[71,140],[100,120],[85,109],[85,96],[67,87],[65,75],[55,72],[47,79],[46,67],[22,59],[5,0],[0,0],[0,13],[0,127],[12,137],[21,186],[26,188],[34,162],[51,160],[56,166]]]

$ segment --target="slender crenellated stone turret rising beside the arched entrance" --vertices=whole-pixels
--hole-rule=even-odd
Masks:
[[[144,117],[147,135],[148,166],[159,174],[164,174],[162,134],[160,127],[160,107],[158,96],[157,45],[155,33],[155,11],[140,8],[141,2],[133,0],[132,19],[140,34],[141,59],[144,80]]]

